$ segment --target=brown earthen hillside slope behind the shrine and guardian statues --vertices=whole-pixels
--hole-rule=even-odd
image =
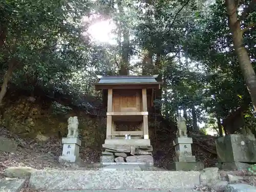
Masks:
[[[58,167],[58,157],[62,151],[61,138],[67,135],[67,119],[70,116],[78,116],[83,165],[99,162],[101,144],[105,139],[105,117],[91,114],[92,110],[88,108],[98,106],[89,103],[86,108],[81,106],[72,109],[46,98],[7,97],[1,113],[0,135],[14,140],[18,147],[14,153],[0,152],[0,167]],[[163,121],[156,123],[150,119],[149,124],[156,166],[167,168],[175,156],[172,142],[175,130]],[[193,140],[193,154],[197,160],[203,161],[205,166],[214,164],[215,138],[196,136]]]

